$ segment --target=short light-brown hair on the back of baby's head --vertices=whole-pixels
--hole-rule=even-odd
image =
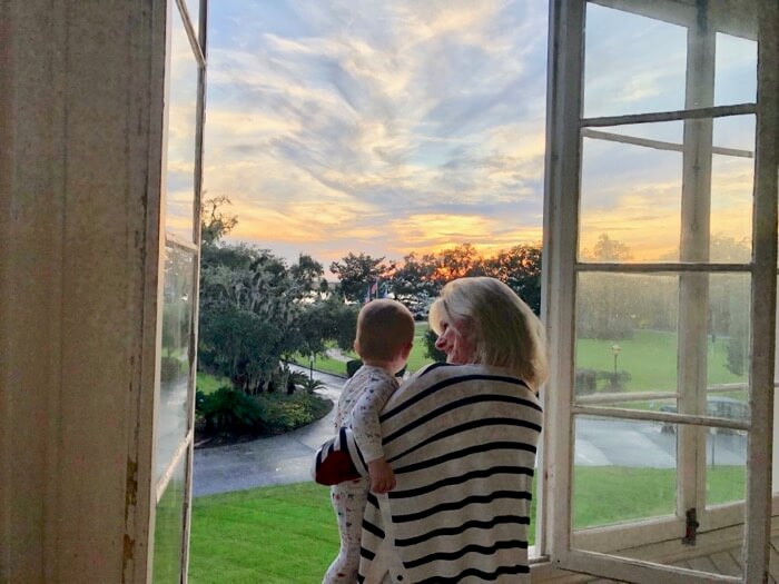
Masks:
[[[388,362],[414,340],[414,317],[396,300],[372,300],[359,310],[357,338],[363,359]]]

